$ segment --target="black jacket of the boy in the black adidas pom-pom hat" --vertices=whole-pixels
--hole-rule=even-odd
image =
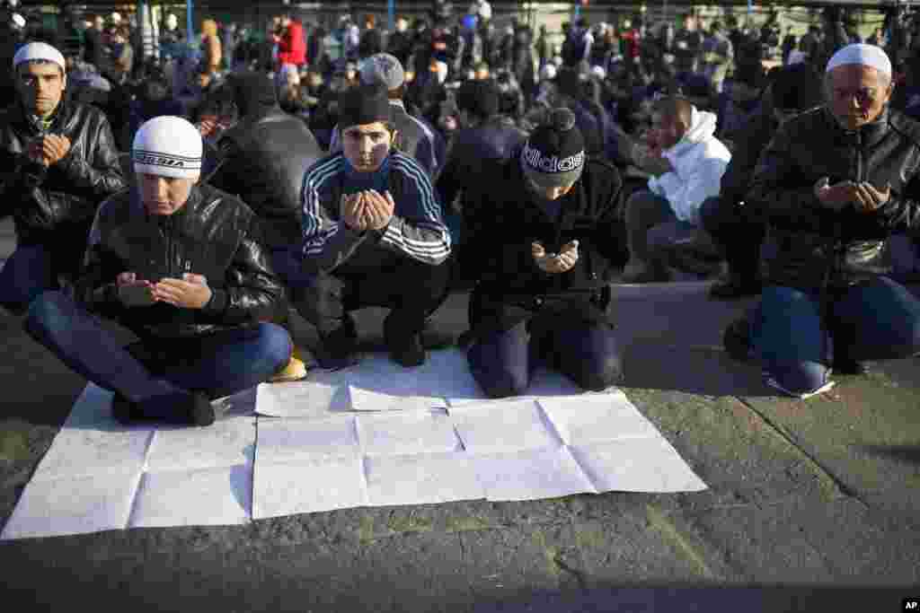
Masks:
[[[471,262],[477,286],[470,298],[474,335],[508,330],[537,312],[558,310],[571,319],[605,321],[610,305],[609,279],[627,260],[616,203],[622,180],[615,166],[589,158],[581,178],[562,197],[550,219],[528,197],[520,150],[471,183],[464,210],[466,229],[477,250]],[[548,274],[536,266],[531,244],[558,253],[579,241],[579,259],[571,270]]]

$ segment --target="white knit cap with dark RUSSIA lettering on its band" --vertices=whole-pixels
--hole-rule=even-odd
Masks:
[[[187,119],[163,115],[144,122],[134,135],[134,172],[196,178],[201,173],[201,134]]]

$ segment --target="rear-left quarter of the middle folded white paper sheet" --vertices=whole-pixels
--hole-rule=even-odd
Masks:
[[[358,456],[361,451],[355,417],[351,414],[326,419],[259,417],[257,430],[257,465]]]

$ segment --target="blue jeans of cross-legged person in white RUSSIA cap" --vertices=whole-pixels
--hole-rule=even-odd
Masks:
[[[95,315],[60,291],[46,291],[32,302],[25,329],[86,380],[120,392],[154,417],[166,417],[169,401],[192,391],[218,398],[269,380],[293,350],[282,327],[257,324],[170,339],[162,345],[168,358],[152,369],[134,358]]]

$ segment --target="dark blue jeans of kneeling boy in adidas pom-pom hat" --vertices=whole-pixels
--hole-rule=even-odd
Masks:
[[[609,326],[559,325],[535,330],[533,335],[527,328],[527,322],[522,322],[477,340],[467,351],[473,378],[490,398],[526,392],[541,360],[586,390],[600,392],[620,379],[622,358]]]

